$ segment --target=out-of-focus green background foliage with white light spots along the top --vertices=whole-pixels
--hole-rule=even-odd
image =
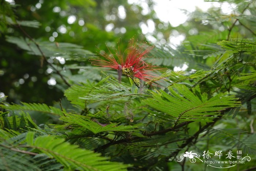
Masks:
[[[75,43],[95,54],[99,53],[100,50],[108,52],[106,45],[110,50],[115,49],[118,38],[122,38],[123,44],[126,45],[131,37],[145,40],[144,37],[146,36],[146,40],[153,40],[154,43],[164,45],[165,43],[172,43],[170,42],[170,36],[182,35],[185,40],[178,47],[179,56],[176,56],[174,60],[164,60],[164,57],[162,58],[162,63],[165,63],[170,69],[173,69],[174,66],[182,67],[184,63],[190,63],[188,70],[210,68],[207,63],[211,63],[209,61],[212,58],[207,58],[207,55],[211,56],[212,54],[207,54],[207,48],[213,46],[207,47],[204,44],[227,39],[228,28],[237,16],[233,13],[222,15],[221,8],[213,7],[208,9],[207,12],[197,8],[195,12],[188,14],[187,22],[172,27],[170,23],[161,22],[157,18],[153,9],[154,1],[151,0],[138,1],[140,3],[128,3],[124,0],[16,0],[10,2],[12,2],[10,3],[12,7],[8,2],[1,0],[3,13],[20,21],[36,20],[39,22],[38,24],[32,24],[37,28],[23,28],[32,38],[55,42],[56,46],[58,46],[58,42]],[[144,7],[142,3],[144,3]],[[145,3],[146,12],[144,9]],[[237,4],[237,11],[242,11],[248,4],[247,1],[241,0],[232,0],[230,3]],[[252,31],[255,29],[255,22],[253,22],[255,10],[251,10],[255,8],[254,5],[252,3],[245,11],[247,13],[242,14],[248,15],[249,13],[251,16],[246,19],[242,18],[242,22],[239,20],[240,24],[235,25],[230,37],[247,38],[252,37],[253,34],[255,35]],[[14,12],[11,8],[14,8]],[[24,35],[17,27],[4,24],[4,21],[5,19],[1,19],[2,23],[0,24],[0,91],[8,95],[8,102],[19,103],[23,101],[52,104],[63,95],[59,88],[49,82],[53,77],[52,69],[49,69],[48,65],[42,65],[39,56],[28,54],[16,45],[7,42],[6,37],[8,35],[15,37],[24,37]],[[154,23],[154,31],[142,34],[142,25],[145,26],[150,22]],[[246,26],[250,26],[250,30]],[[205,39],[206,37],[207,39]],[[193,49],[195,46],[197,46],[197,49]],[[206,54],[200,54],[203,59],[198,56],[192,59],[189,58],[188,53],[184,54],[185,48],[194,50],[195,53],[198,48],[205,49]],[[221,53],[221,49],[216,48],[216,54]],[[64,62],[78,66],[89,64],[88,60],[58,61],[56,58],[48,60],[60,67],[63,66]],[[194,66],[194,60],[202,61],[202,66]],[[209,61],[207,62],[207,60]],[[155,63],[159,65],[159,61]],[[72,69],[71,72],[75,74],[79,72],[79,69]],[[93,76],[91,78],[97,79]],[[55,84],[53,79],[51,81]],[[60,81],[57,79],[58,83]]]

